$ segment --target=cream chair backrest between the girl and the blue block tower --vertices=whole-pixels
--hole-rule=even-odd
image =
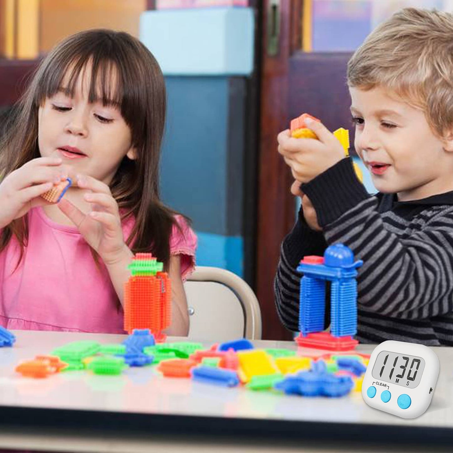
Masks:
[[[261,311],[250,286],[236,274],[197,266],[184,283],[190,315],[189,338],[227,341],[261,338]]]

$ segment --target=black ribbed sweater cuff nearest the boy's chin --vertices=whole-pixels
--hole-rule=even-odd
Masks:
[[[312,202],[321,227],[334,222],[345,212],[371,197],[358,180],[349,157],[340,160],[310,182],[302,184],[300,190]]]

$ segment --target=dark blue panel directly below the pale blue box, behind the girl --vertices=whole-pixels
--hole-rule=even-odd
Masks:
[[[198,231],[242,236],[245,80],[166,77],[166,83],[162,199]]]

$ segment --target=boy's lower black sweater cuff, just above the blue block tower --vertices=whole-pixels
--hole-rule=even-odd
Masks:
[[[323,255],[327,248],[323,233],[312,230],[305,222],[302,207],[299,211],[298,221],[284,238],[282,248],[288,264],[294,268],[299,265],[304,256]]]

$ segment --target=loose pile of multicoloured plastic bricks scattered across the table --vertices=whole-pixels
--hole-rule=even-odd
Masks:
[[[121,344],[72,342],[51,356],[21,363],[24,376],[89,370],[118,375],[130,366],[157,366],[166,377],[190,378],[219,386],[279,390],[303,396],[343,396],[360,391],[370,356],[331,353],[304,357],[287,349],[257,349],[246,339],[214,344],[155,343],[148,329],[136,329]]]

